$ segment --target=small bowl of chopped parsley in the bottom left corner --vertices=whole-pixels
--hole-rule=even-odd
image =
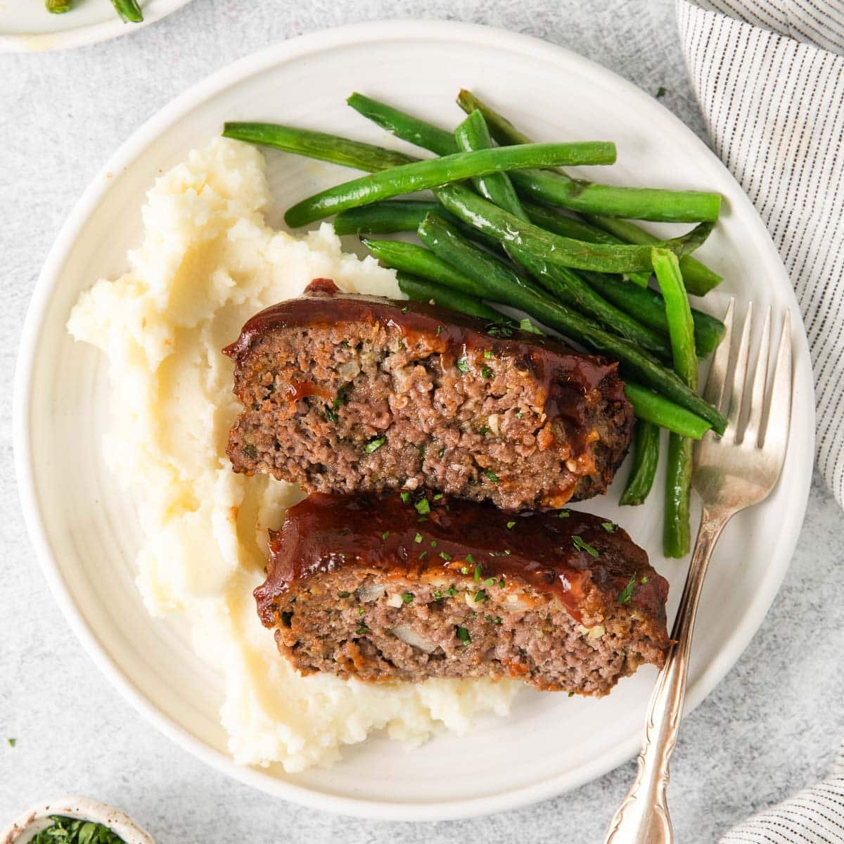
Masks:
[[[31,806],[0,832],[3,844],[155,844],[122,809],[88,797]]]

